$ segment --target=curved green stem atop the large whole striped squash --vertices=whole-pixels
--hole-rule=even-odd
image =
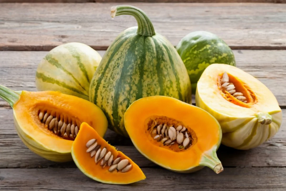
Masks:
[[[144,11],[141,9],[131,5],[119,5],[116,7],[111,7],[111,17],[116,17],[119,15],[132,15],[135,17],[138,24],[137,34],[142,36],[155,35],[152,22],[147,17],[146,13],[144,13]]]

